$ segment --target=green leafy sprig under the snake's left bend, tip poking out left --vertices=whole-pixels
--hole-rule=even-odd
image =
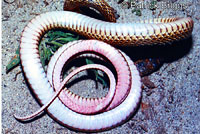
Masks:
[[[39,54],[43,68],[48,64],[51,56],[54,54],[55,51],[58,50],[59,47],[70,41],[78,39],[79,36],[72,33],[56,31],[56,30],[49,31],[39,44]],[[19,58],[19,48],[18,48],[16,51],[16,55],[11,59],[11,61],[6,66],[6,72],[8,73],[14,67],[19,65],[19,63],[20,63],[20,58]]]

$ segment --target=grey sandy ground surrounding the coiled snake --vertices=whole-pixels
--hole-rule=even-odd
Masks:
[[[9,0],[7,0],[9,1]],[[184,3],[183,10],[142,10],[141,17],[135,17],[131,9],[109,1],[117,10],[118,22],[129,22],[155,17],[192,17],[194,31],[192,38],[166,50],[166,62],[156,72],[143,78],[141,106],[125,124],[103,133],[200,133],[200,1],[173,0]],[[46,113],[29,123],[21,123],[13,114],[27,115],[40,106],[30,92],[24,76],[17,67],[6,74],[6,65],[19,46],[20,35],[28,21],[38,14],[62,10],[63,0],[16,0],[2,2],[2,131],[4,134],[67,134],[76,133],[61,126]],[[182,46],[181,46],[182,45]],[[181,47],[180,47],[181,46]],[[168,57],[169,56],[169,57]],[[74,88],[92,89],[95,83],[83,80]],[[86,91],[85,91],[86,92]]]

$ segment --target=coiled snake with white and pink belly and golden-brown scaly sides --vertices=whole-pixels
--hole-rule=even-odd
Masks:
[[[79,6],[96,8],[108,21],[70,11]],[[29,116],[14,115],[17,120],[29,120],[46,110],[55,121],[76,131],[105,131],[123,124],[140,103],[141,77],[129,56],[116,47],[165,45],[189,37],[193,30],[193,20],[189,17],[116,23],[113,8],[104,0],[66,0],[64,10],[36,16],[22,32],[22,68],[42,107]],[[46,73],[40,61],[38,45],[47,31],[56,28],[76,32],[89,40],[73,41],[59,48],[51,58]],[[116,75],[104,65],[89,64],[76,68],[63,78],[64,66],[80,56],[112,64]],[[73,76],[86,69],[101,70],[108,76],[110,90],[106,96],[84,98],[65,87]]]

